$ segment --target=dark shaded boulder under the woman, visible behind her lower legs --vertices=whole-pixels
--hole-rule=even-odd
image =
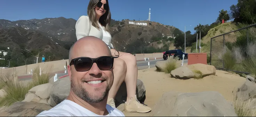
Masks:
[[[146,89],[143,82],[137,79],[137,88],[136,88],[137,99],[143,102],[145,98],[145,94],[146,94]],[[126,84],[125,82],[123,82],[119,87],[117,95],[115,96],[115,105],[118,106],[121,103],[124,103],[126,99],[127,99]]]

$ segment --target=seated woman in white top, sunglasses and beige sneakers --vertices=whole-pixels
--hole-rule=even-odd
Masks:
[[[109,91],[107,103],[115,107],[115,95],[123,81],[127,87],[127,100],[124,111],[145,113],[151,111],[137,100],[136,84],[138,76],[137,62],[134,55],[126,52],[118,52],[111,44],[110,20],[111,13],[108,0],[90,0],[87,8],[88,16],[81,16],[75,24],[77,40],[85,36],[95,36],[102,39],[111,50],[114,59],[114,83]]]

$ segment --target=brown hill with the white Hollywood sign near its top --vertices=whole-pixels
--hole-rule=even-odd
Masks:
[[[112,44],[114,48],[120,51],[126,51],[126,47],[148,46],[153,41],[153,36],[162,37],[173,36],[175,27],[163,25],[157,22],[142,21],[147,26],[133,25],[129,20],[116,21],[111,27]],[[140,22],[140,21],[134,21]],[[124,49],[125,48],[125,49]]]

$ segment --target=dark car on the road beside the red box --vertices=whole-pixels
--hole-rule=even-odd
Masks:
[[[187,59],[187,53],[184,53],[181,49],[176,49],[176,50],[168,50],[163,52],[163,60],[167,60],[168,56],[173,56],[176,57],[178,56],[179,60],[182,60],[182,55],[185,55],[184,59]]]

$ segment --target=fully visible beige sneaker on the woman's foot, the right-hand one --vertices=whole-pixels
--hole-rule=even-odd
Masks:
[[[124,111],[146,113],[151,111],[151,108],[139,103],[139,101],[136,98],[132,98],[129,103],[125,102]]]

